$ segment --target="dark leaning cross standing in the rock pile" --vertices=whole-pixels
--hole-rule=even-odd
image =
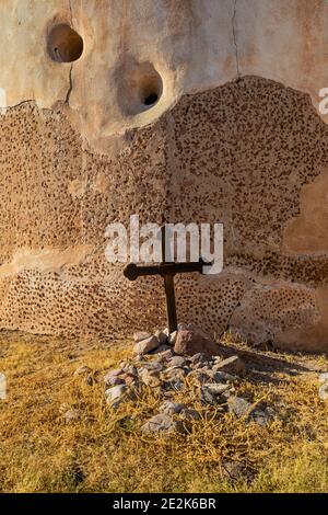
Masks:
[[[136,281],[140,276],[147,275],[161,275],[164,278],[165,296],[166,296],[166,310],[167,323],[169,333],[177,330],[177,314],[174,290],[174,276],[176,274],[184,274],[190,272],[203,273],[203,266],[211,263],[204,262],[202,259],[199,261],[188,263],[175,263],[165,261],[165,227],[162,228],[162,263],[159,265],[136,265],[130,263],[126,266],[124,275],[129,281]]]

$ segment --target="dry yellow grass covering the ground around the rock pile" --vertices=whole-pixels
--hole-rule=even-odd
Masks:
[[[266,400],[279,419],[260,427],[231,414],[202,417],[186,435],[159,438],[139,432],[159,407],[151,391],[113,411],[102,382],[90,387],[73,376],[82,364],[116,366],[129,356],[129,342],[2,333],[0,491],[327,492],[328,404],[317,393],[326,358],[238,350],[254,369],[238,393]],[[83,417],[66,424],[63,403],[81,408]],[[243,466],[248,480],[226,478],[226,461]]]

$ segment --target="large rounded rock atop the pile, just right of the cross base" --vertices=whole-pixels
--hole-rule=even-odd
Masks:
[[[202,329],[190,323],[177,332],[174,352],[181,356],[194,356],[198,353],[213,356],[218,354],[219,346]]]

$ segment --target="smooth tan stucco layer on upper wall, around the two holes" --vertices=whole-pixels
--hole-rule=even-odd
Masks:
[[[84,39],[72,65],[47,55],[49,27],[61,22]],[[9,106],[69,102],[71,122],[104,150],[106,138],[154,122],[181,94],[238,76],[309,93],[318,108],[327,87],[327,33],[324,0],[2,0],[0,88]],[[160,102],[133,116],[117,102],[117,70],[127,58],[151,62],[163,79]]]

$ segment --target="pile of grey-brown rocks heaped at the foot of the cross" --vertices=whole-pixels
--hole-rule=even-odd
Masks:
[[[229,411],[260,425],[274,415],[269,408],[254,408],[236,396],[236,386],[247,373],[244,360],[237,355],[221,357],[220,346],[194,324],[181,324],[173,334],[167,330],[136,333],[133,350],[131,362],[120,363],[105,375],[105,396],[114,409],[136,399],[145,388],[163,399],[159,413],[141,427],[143,433],[186,431],[190,421],[207,416],[213,408],[215,413]],[[176,392],[184,392],[188,400],[199,400],[201,412],[174,402]]]

